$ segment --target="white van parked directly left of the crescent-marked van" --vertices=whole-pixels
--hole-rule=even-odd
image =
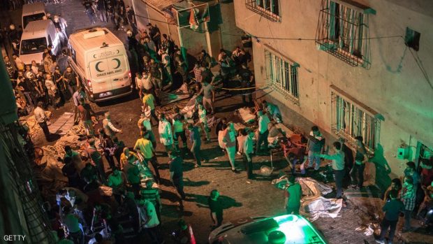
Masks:
[[[29,22],[22,31],[20,43],[20,59],[24,64],[34,60],[41,64],[43,50],[52,45],[52,53],[59,54],[61,50],[60,36],[51,20],[36,20]]]

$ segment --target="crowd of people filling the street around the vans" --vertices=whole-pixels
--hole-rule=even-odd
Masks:
[[[68,66],[66,51],[57,57],[52,54],[52,46],[48,46],[41,62],[35,60],[31,65],[24,65],[18,55],[12,55],[14,62],[10,62],[7,56],[3,57],[16,94],[18,114],[28,115],[34,110],[35,120],[43,129],[47,141],[50,141],[51,135],[45,110],[48,106],[57,109],[70,99],[73,101],[74,122],[81,122],[86,129],[85,155],[67,145],[65,156],[58,159],[64,164],[62,173],[68,178],[68,185],[57,192],[56,205],[47,203],[45,210],[50,215],[53,229],[59,230],[56,236],[75,244],[125,243],[128,238],[118,220],[122,215],[127,215],[133,223],[135,238],[149,243],[164,243],[166,237],[160,229],[159,157],[170,157],[168,180],[178,194],[179,204],[183,206],[183,201],[187,199],[183,183],[184,157],[191,155],[196,168],[208,160],[202,152],[202,144],[210,143],[211,138],[207,115],[217,112],[214,105],[215,80],[219,78],[222,90],[226,91],[230,80],[235,77],[240,80],[242,88],[251,87],[254,75],[247,66],[251,57],[238,47],[233,52],[221,50],[217,59],[202,50],[196,63],[191,65],[170,36],[161,34],[156,24],[138,29],[133,10],[122,0],[84,1],[83,6],[91,24],[111,20],[116,29],[131,27],[126,29],[126,34],[131,65],[138,71],[134,85],[142,102],[138,120],[140,135],[135,145],[125,145],[119,136],[124,131],[112,123],[110,112],[104,114],[101,128],[94,128],[96,124],[92,117],[98,117],[97,113],[89,105],[78,76]],[[50,16],[46,18],[51,19]],[[54,15],[52,21],[57,23],[56,27],[64,31],[66,37],[66,21],[61,20],[59,15]],[[19,31],[10,33],[19,39]],[[219,66],[217,77],[211,71],[214,66]],[[187,120],[179,109],[175,110],[174,115],[157,115],[156,108],[161,106],[160,92],[182,83],[188,84],[191,93],[196,95],[193,122]],[[247,100],[252,103],[249,92],[242,95],[242,101],[246,103]],[[262,101],[257,109],[257,120],[257,130],[251,127],[236,130],[235,124],[226,118],[215,129],[219,146],[226,153],[231,170],[240,173],[241,167],[235,157],[236,154],[242,155],[248,180],[256,177],[253,173],[254,156],[269,155],[268,138],[274,134],[273,124],[282,123],[282,116],[277,106]],[[154,134],[152,127],[156,126],[158,133]],[[362,189],[365,164],[373,155],[362,143],[362,137],[358,136],[355,140],[355,157],[344,139],[332,143],[331,152],[325,150],[324,136],[316,126],[311,128],[305,147],[296,146],[290,140],[281,141],[284,157],[292,170],[285,187],[284,208],[287,213],[299,214],[300,210],[302,189],[295,180],[296,164],[302,164],[300,173],[304,174],[307,168],[318,171],[321,159],[331,160],[337,199],[344,197],[344,185]],[[156,152],[158,144],[163,145],[164,152]],[[106,166],[109,171],[106,171]],[[422,175],[418,174],[413,162],[407,166],[404,184],[399,179],[392,180],[385,194],[383,210],[386,213],[381,236],[377,240],[379,243],[383,243],[388,228],[388,238],[392,241],[400,212],[404,212],[404,231],[410,231],[412,211],[418,209],[417,216],[425,217],[426,209],[431,206],[431,160],[421,164]],[[417,200],[419,191],[425,192],[422,203],[419,198]],[[54,199],[46,200],[54,202]],[[210,192],[208,205],[214,227],[219,227],[223,222],[223,208],[217,189]],[[179,220],[178,225],[179,229],[173,234],[175,242],[195,243],[191,225],[184,220]]]

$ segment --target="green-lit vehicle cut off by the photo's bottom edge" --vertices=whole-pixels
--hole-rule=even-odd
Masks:
[[[214,229],[210,244],[326,244],[327,241],[302,215],[244,217]]]

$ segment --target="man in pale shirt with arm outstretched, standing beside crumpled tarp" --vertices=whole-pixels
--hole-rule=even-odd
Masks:
[[[342,151],[342,143],[336,141],[332,144],[335,153],[333,155],[317,155],[324,159],[332,160],[332,169],[334,170],[335,186],[337,187],[337,196],[335,198],[342,198],[343,193],[343,178],[344,178],[344,152]]]

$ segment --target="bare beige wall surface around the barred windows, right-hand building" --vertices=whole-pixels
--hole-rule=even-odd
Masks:
[[[277,92],[267,95],[268,100],[279,101],[285,121],[302,127],[305,123],[298,120],[301,115],[304,120],[331,134],[330,85],[335,85],[385,117],[381,122],[381,160],[383,164],[389,164],[391,177],[402,175],[407,160],[395,158],[399,145],[416,145],[416,141],[420,141],[430,148],[433,146],[433,89],[406,49],[403,39],[372,39],[371,69],[352,67],[327,52],[317,50],[314,41],[272,40],[272,37],[314,38],[321,8],[318,0],[279,2],[281,22],[272,22],[247,10],[244,1],[235,1],[237,27],[254,36],[270,37],[259,38],[259,43],[254,40],[257,85],[263,85],[266,80],[264,50],[265,44],[270,45],[300,64],[300,106],[285,101]],[[417,55],[432,77],[433,47],[430,43],[433,41],[433,18],[404,8],[402,2],[397,5],[386,0],[364,1],[377,11],[376,15],[369,15],[370,37],[404,36],[406,27],[419,31],[420,51]]]

